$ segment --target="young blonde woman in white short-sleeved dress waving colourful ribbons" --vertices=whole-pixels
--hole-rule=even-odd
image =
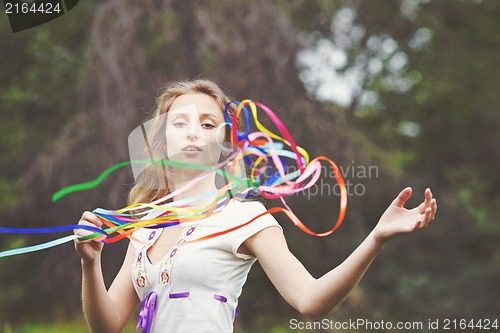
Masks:
[[[156,115],[166,121],[157,127],[161,130],[154,135],[153,147],[162,148],[164,158],[169,160],[214,165],[224,152],[213,143],[227,141],[227,131],[217,128],[224,123],[223,109],[228,102],[229,97],[211,81],[172,84],[158,99]],[[152,202],[181,188],[199,173],[183,168],[154,173],[165,178],[168,186],[163,188],[148,187],[158,179],[152,181],[144,176],[132,189],[129,201]],[[200,194],[215,193],[215,184],[213,173],[175,195],[173,203],[195,197],[198,199],[191,205],[205,207],[214,196]],[[361,245],[318,279],[289,251],[281,227],[269,214],[221,236],[189,242],[239,226],[265,212],[256,201],[232,199],[203,220],[135,232],[136,241],[130,242],[109,290],[104,285],[100,262],[103,244],[76,240],[88,324],[92,332],[120,332],[143,301],[143,331],[232,332],[238,297],[256,260],[290,305],[311,319],[322,318],[356,286],[390,239],[426,228],[434,219],[437,204],[431,191],[427,189],[424,201],[408,210],[403,205],[411,194],[411,188],[401,191]],[[149,217],[151,214],[159,215],[161,210]],[[83,213],[79,224],[102,226],[90,212]],[[88,234],[83,230],[77,233]]]

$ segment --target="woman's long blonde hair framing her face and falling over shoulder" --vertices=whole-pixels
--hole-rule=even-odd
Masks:
[[[165,158],[165,122],[161,120],[164,118],[161,116],[170,110],[172,103],[177,97],[188,93],[201,93],[212,97],[220,106],[221,112],[227,103],[233,101],[215,82],[210,80],[196,79],[171,83],[163,89],[156,101],[156,111],[153,117],[154,125],[152,126],[153,133],[151,135],[150,147],[148,147],[150,149],[150,158],[155,160]],[[234,105],[231,105],[228,113],[230,116],[234,114]],[[230,132],[227,128],[224,141],[230,141]],[[167,183],[167,173],[168,168],[163,165],[158,163],[148,165],[138,179],[136,179],[136,184],[130,190],[128,204],[149,203],[168,195],[170,189]]]

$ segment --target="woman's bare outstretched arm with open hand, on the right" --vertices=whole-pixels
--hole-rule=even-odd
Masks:
[[[339,266],[319,279],[309,274],[289,251],[283,233],[267,228],[247,239],[244,249],[255,255],[280,294],[302,314],[319,319],[335,308],[358,284],[383,246],[397,235],[425,228],[434,219],[436,200],[429,189],[425,200],[404,208],[411,188],[405,188],[384,212],[376,227]]]

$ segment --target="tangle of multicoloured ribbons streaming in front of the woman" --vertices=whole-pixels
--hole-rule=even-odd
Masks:
[[[65,187],[53,196],[53,201],[68,195],[69,193],[81,190],[95,188],[104,181],[104,179],[113,171],[132,164],[152,164],[160,163],[168,167],[189,168],[200,170],[198,177],[188,182],[182,188],[170,193],[169,195],[157,199],[150,203],[137,203],[119,210],[105,210],[97,208],[93,211],[104,226],[103,229],[93,228],[82,225],[69,225],[53,228],[0,228],[0,233],[9,234],[33,234],[33,233],[52,233],[72,229],[85,229],[93,231],[88,236],[68,236],[57,239],[52,242],[40,244],[37,246],[12,249],[0,252],[0,257],[9,255],[38,251],[41,249],[56,246],[73,239],[96,240],[105,243],[114,243],[123,238],[133,239],[132,234],[140,228],[165,228],[177,225],[181,221],[195,221],[207,218],[212,214],[217,214],[230,200],[231,197],[245,197],[248,195],[261,195],[268,199],[280,199],[284,207],[273,207],[266,212],[259,214],[249,221],[246,221],[236,227],[214,233],[190,242],[198,242],[213,237],[217,237],[228,232],[234,231],[245,225],[248,225],[265,214],[284,213],[299,229],[313,236],[327,236],[338,229],[341,225],[347,209],[347,190],[341,172],[337,165],[325,156],[319,156],[310,160],[309,154],[305,149],[298,146],[285,125],[276,116],[276,114],[267,106],[252,101],[244,100],[234,102],[236,110],[231,116],[229,108],[231,103],[224,109],[226,123],[221,124],[218,130],[223,126],[229,126],[231,130],[231,147],[228,149],[221,145],[221,149],[230,153],[227,158],[215,166],[194,165],[180,163],[170,160],[139,160],[118,163],[105,170],[96,180]],[[279,134],[271,132],[258,119],[258,111],[262,110],[278,129]],[[245,131],[238,129],[238,118],[245,120]],[[257,127],[257,131],[251,131],[250,119]],[[242,177],[241,160],[249,167],[249,177]],[[288,162],[287,162],[288,161]],[[293,161],[291,163],[290,161]],[[322,162],[328,163],[334,172],[334,177],[340,188],[340,209],[337,220],[333,227],[325,232],[314,232],[310,230],[290,209],[284,200],[287,195],[292,195],[311,188],[321,176]],[[227,184],[214,193],[205,193],[197,196],[175,200],[174,198],[194,186],[204,177],[213,173],[223,176]],[[194,208],[193,202],[202,198],[214,197],[215,199],[202,208]],[[154,211],[157,213],[154,217]],[[139,213],[138,213],[139,212]]]

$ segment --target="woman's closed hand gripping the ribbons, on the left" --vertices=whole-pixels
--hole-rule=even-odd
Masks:
[[[101,228],[102,221],[95,214],[86,211],[82,214],[82,218],[78,222],[78,225],[88,225]],[[78,236],[87,236],[93,234],[94,232],[90,230],[76,229],[74,233]],[[75,239],[76,252],[78,252],[82,258],[82,263],[85,264],[93,264],[100,257],[103,246],[104,243],[95,240],[81,241],[79,239]]]

